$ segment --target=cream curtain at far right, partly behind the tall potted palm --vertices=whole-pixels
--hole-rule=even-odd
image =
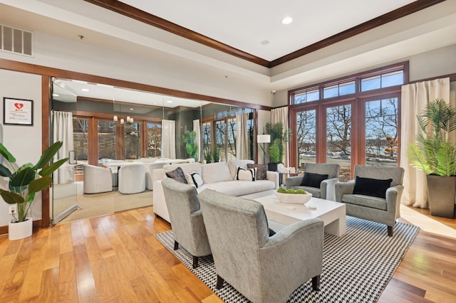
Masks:
[[[402,87],[400,165],[405,170],[402,203],[408,206],[429,207],[426,175],[423,171],[410,166],[407,150],[410,148],[410,142],[415,142],[416,135],[420,133],[416,116],[420,115],[425,110],[427,103],[435,98],[450,102],[449,78],[413,83]]]

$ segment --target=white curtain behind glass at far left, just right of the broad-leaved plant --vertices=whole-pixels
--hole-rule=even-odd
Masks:
[[[53,161],[70,157],[70,151],[74,155],[73,145],[73,114],[71,112],[52,112],[53,114],[53,142],[61,141],[63,146],[58,150]],[[73,161],[73,159],[70,159]],[[54,184],[72,183],[74,180],[73,166],[63,164],[53,173]]]

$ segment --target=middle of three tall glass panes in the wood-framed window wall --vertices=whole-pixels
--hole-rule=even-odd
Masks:
[[[326,110],[326,162],[341,165],[341,182],[351,179],[351,105]]]

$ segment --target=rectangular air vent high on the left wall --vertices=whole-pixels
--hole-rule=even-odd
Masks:
[[[18,55],[33,55],[33,34],[19,28],[0,24],[0,50]]]

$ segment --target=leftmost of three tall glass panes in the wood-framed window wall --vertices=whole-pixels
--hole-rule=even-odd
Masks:
[[[296,114],[296,136],[298,168],[304,169],[304,163],[316,162],[316,110]]]

